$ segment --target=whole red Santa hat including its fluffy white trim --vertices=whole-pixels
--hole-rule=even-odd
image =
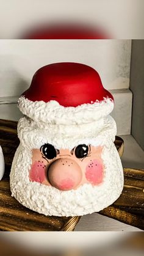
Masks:
[[[112,112],[113,97],[92,67],[62,62],[41,67],[18,104],[36,122],[81,124]]]

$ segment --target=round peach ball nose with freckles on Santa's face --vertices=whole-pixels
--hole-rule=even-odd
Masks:
[[[48,169],[48,178],[52,186],[59,190],[76,188],[82,180],[79,165],[71,159],[59,158]]]

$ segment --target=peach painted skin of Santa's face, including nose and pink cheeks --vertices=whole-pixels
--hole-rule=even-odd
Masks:
[[[29,179],[62,191],[77,189],[85,183],[98,186],[104,177],[102,150],[103,147],[85,144],[58,150],[44,144],[32,150]]]

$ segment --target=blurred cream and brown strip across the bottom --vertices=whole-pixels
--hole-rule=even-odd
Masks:
[[[0,233],[2,256],[141,256],[143,249],[142,232]]]

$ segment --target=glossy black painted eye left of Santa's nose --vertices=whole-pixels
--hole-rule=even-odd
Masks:
[[[48,143],[41,146],[40,151],[48,159],[53,159],[53,158],[56,158],[56,156],[57,156],[56,148],[54,148],[54,146],[52,146],[51,144],[48,144]]]

